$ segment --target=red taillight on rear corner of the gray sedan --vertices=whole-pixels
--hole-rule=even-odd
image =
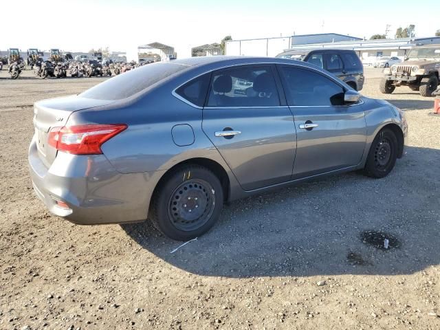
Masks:
[[[59,151],[74,155],[97,155],[111,137],[124,131],[126,124],[92,124],[54,127],[49,132],[49,144]]]

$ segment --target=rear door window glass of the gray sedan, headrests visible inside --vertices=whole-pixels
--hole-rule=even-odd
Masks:
[[[276,107],[280,105],[272,68],[238,67],[212,74],[208,107]]]

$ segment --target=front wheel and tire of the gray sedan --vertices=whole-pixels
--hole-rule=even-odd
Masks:
[[[393,170],[397,159],[397,137],[391,129],[377,133],[366,158],[364,175],[380,179]]]

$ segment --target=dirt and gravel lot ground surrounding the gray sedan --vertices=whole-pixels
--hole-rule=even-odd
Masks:
[[[103,79],[1,72],[0,329],[440,329],[440,118],[432,98],[384,96],[380,70],[366,76],[362,94],[410,125],[391,175],[236,201],[170,254],[180,243],[148,223],[72,225],[32,192],[32,103]],[[370,245],[369,231],[391,247]]]

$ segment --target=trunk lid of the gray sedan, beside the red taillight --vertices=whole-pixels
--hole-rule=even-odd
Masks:
[[[115,101],[94,100],[78,96],[54,98],[35,102],[34,129],[37,150],[45,166],[50,167],[56,157],[57,150],[48,143],[49,131],[53,127],[65,126],[69,116],[75,111],[102,107]]]

